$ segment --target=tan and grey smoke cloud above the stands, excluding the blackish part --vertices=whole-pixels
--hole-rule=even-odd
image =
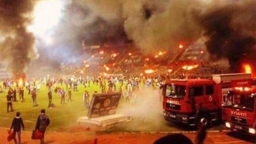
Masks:
[[[188,5],[188,3],[190,3]],[[86,45],[134,42],[145,54],[159,49],[175,53],[181,41],[200,37],[200,26],[192,19],[198,1],[188,0],[74,0],[65,11],[60,42]]]

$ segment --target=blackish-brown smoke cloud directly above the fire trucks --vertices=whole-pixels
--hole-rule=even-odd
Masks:
[[[204,36],[209,38],[205,45],[212,58],[228,58],[234,71],[239,71],[241,63],[255,64],[255,8],[255,1],[243,1],[219,6],[199,16]]]

